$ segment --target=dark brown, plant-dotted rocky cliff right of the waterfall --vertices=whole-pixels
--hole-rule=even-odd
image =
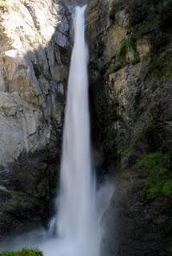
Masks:
[[[116,177],[109,254],[171,254],[171,4],[90,1],[93,138]]]

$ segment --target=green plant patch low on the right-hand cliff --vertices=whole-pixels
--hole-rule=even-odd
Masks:
[[[146,154],[136,164],[136,169],[145,174],[144,194],[146,198],[172,196],[172,176],[170,174],[171,155],[156,152]]]

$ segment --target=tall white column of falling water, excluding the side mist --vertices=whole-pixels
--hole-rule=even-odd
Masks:
[[[62,142],[58,234],[62,240],[71,243],[75,256],[96,256],[100,248],[100,232],[90,158],[85,10],[86,6],[76,7],[75,10],[74,49],[70,62]]]

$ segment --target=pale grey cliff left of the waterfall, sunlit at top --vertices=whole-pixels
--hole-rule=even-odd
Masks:
[[[69,17],[56,1],[0,1],[0,235],[50,214],[58,181]]]

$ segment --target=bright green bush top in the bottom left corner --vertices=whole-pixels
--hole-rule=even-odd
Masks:
[[[18,251],[5,251],[0,253],[0,256],[43,256],[40,250],[26,249]]]

